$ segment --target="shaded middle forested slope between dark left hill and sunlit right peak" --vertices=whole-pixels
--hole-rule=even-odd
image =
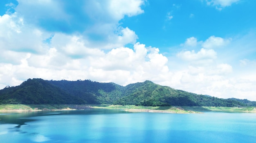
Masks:
[[[123,95],[123,87],[115,83],[101,83],[91,80],[50,80],[48,82],[90,104],[112,104],[113,101],[120,99]]]

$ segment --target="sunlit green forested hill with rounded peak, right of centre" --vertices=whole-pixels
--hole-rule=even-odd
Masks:
[[[130,84],[125,87],[124,97],[114,104],[134,104],[144,106],[245,106],[231,99],[221,99],[198,95],[171,87],[157,85],[151,81]]]

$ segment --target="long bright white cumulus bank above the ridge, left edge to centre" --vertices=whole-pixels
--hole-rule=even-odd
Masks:
[[[46,55],[27,54],[19,65],[2,64],[1,67],[5,68],[0,73],[0,80],[6,77],[14,77],[18,82],[34,77],[48,80],[92,79],[126,85],[152,78],[159,80],[164,77],[159,75],[168,73],[168,59],[159,54],[158,48],[145,47],[140,43],[134,45],[134,50],[116,48],[103,52],[101,56],[81,59],[59,54],[55,48],[50,48]],[[59,61],[54,63],[56,59]]]

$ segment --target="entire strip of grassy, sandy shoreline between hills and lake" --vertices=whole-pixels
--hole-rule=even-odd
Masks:
[[[127,112],[148,113],[202,113],[202,112],[231,112],[256,113],[256,107],[216,107],[216,106],[135,106],[135,105],[107,105],[107,104],[0,104],[0,113],[7,112],[36,112],[36,111],[75,111],[85,109],[118,109]]]

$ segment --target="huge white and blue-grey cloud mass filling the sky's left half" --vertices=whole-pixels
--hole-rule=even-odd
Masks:
[[[113,81],[122,85],[134,82],[134,78],[136,81],[142,81],[141,78],[146,79],[142,76],[144,67],[151,69],[151,65],[148,66],[148,61],[145,59],[145,57],[148,58],[147,48],[143,44],[135,44],[138,37],[133,30],[128,27],[123,28],[118,24],[125,15],[133,16],[143,13],[144,11],[141,10],[140,6],[144,4],[144,1],[119,2],[113,0],[99,3],[92,0],[84,2],[94,3],[91,5],[91,10],[94,13],[80,9],[88,6],[83,2],[83,6],[76,7],[78,11],[83,10],[83,16],[89,17],[92,23],[88,29],[85,28],[80,33],[70,34],[69,32],[65,33],[65,31],[52,31],[51,27],[40,25],[40,23],[48,21],[50,23],[46,24],[47,26],[54,26],[57,21],[58,24],[63,22],[65,28],[68,28],[65,26],[67,21],[72,25],[78,17],[73,17],[75,15],[70,14],[65,9],[65,4],[68,4],[65,2],[58,3],[58,1],[51,0],[42,3],[41,1],[19,1],[15,9],[16,13],[0,16],[1,88],[6,85],[19,85],[28,78],[48,80],[99,79],[99,81],[113,78],[115,79]],[[54,7],[56,9],[53,9]],[[37,13],[36,16],[33,13]],[[104,17],[103,21],[94,19],[94,16]],[[77,20],[81,20],[81,17]],[[86,21],[86,23],[90,22]],[[78,26],[72,25],[72,27]],[[91,34],[94,33],[96,33],[95,37],[97,38],[91,39],[90,37],[93,37]],[[135,44],[135,51],[130,48],[122,48],[128,43]],[[115,49],[110,50],[110,52],[101,50],[112,48]],[[157,56],[158,53],[154,54]],[[136,59],[142,65],[139,65]],[[154,58],[150,59],[153,60]],[[165,57],[165,59],[167,58]],[[99,62],[98,65],[94,65],[97,61]],[[107,62],[113,63],[104,65]],[[135,65],[137,65],[136,68]],[[109,70],[111,67],[113,67],[112,71]],[[133,71],[130,72],[129,68]],[[101,71],[101,73],[98,74],[97,71]],[[96,75],[99,77],[105,75],[104,78],[109,78],[96,78]],[[127,75],[133,78],[128,78]],[[122,80],[119,81],[119,79]]]

